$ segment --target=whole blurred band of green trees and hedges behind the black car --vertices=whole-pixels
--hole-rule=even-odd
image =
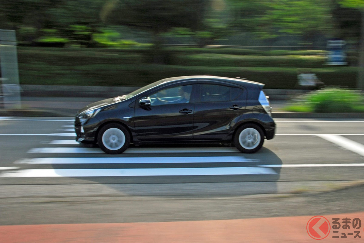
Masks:
[[[2,0],[0,29],[16,31],[20,85],[217,75],[292,89],[310,72],[364,87],[362,0]],[[328,64],[328,40],[344,40],[346,65]]]

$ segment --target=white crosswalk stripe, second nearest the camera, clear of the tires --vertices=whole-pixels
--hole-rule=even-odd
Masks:
[[[257,162],[242,156],[215,157],[111,157],[111,158],[27,158],[14,164],[175,164],[213,162]]]

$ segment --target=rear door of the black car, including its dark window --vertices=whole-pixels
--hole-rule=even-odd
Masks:
[[[223,140],[234,121],[245,111],[246,90],[221,83],[201,83],[198,86],[194,140]]]

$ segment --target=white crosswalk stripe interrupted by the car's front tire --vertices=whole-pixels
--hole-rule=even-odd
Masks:
[[[128,148],[123,153],[213,153],[239,152],[236,148]],[[28,153],[104,153],[99,148],[33,148]]]

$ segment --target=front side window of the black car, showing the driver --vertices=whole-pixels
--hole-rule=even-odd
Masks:
[[[178,86],[149,95],[151,106],[189,103],[192,85]]]

